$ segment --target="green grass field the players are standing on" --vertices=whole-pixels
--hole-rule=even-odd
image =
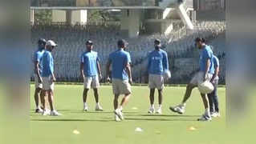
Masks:
[[[169,106],[181,102],[185,87],[165,87],[163,114],[150,115],[147,86],[132,86],[132,97],[124,107],[123,122],[115,122],[112,108],[112,87],[100,87],[100,103],[104,112],[95,112],[95,100],[90,90],[87,103],[90,110],[83,112],[82,85],[56,85],[55,106],[63,114],[59,117],[35,114],[33,85],[30,86],[30,138],[36,144],[169,144],[219,143],[213,138],[226,128],[226,88],[218,89],[221,118],[212,122],[197,122],[204,112],[198,90],[193,90],[183,115],[174,114]],[[157,103],[157,94],[155,95]],[[135,110],[135,107],[137,110]],[[195,130],[189,128],[194,127]],[[136,127],[143,131],[136,132]],[[74,134],[73,131],[79,131]]]

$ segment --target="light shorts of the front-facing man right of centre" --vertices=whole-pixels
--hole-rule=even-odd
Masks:
[[[149,74],[148,76],[148,87],[150,89],[162,90],[165,87],[165,78],[160,74]]]

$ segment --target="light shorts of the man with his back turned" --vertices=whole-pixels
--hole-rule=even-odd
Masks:
[[[131,85],[128,80],[112,78],[112,88],[114,94],[132,94]]]

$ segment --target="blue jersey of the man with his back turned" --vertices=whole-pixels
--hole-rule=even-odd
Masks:
[[[109,60],[112,62],[112,78],[128,79],[125,66],[130,62],[129,53],[124,50],[116,50],[109,55]]]

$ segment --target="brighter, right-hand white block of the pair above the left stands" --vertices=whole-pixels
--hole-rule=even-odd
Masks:
[[[71,25],[86,24],[87,23],[87,10],[72,10],[71,12]]]

